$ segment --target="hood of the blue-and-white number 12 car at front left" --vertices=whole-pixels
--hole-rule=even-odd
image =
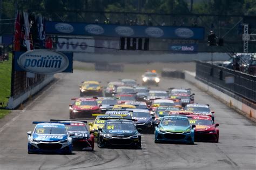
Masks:
[[[43,140],[43,141],[59,141],[68,139],[68,134],[37,134],[33,133],[33,139]]]

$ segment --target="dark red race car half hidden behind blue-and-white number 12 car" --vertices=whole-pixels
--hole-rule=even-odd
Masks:
[[[66,129],[68,132],[74,133],[72,138],[73,149],[82,151],[93,151],[94,149],[94,135],[90,134],[87,130],[86,123],[84,120],[59,120],[51,119],[50,121],[58,121],[59,123],[69,123],[66,124]],[[93,132],[91,132],[93,133]]]

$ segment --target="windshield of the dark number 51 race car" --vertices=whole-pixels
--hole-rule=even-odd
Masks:
[[[109,122],[105,125],[105,130],[136,130],[136,127],[133,123],[127,123],[127,122]]]

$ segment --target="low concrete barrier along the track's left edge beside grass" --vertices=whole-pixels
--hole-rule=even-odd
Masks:
[[[29,99],[33,94],[37,93],[39,90],[43,89],[44,86],[48,85],[52,80],[54,79],[53,75],[47,75],[46,78],[35,87],[31,87],[28,91],[21,94],[19,97],[10,97],[8,106],[6,108],[8,109],[15,109],[18,106],[20,106],[25,100]]]

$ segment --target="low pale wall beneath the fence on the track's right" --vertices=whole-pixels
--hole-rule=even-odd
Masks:
[[[254,108],[242,103],[237,99],[234,99],[228,96],[223,92],[218,91],[217,89],[214,89],[213,87],[210,86],[210,83],[205,84],[202,81],[196,79],[195,72],[184,71],[184,74],[185,74],[185,80],[199,87],[199,89],[211,94],[214,98],[217,98],[223,101],[226,105],[234,108],[234,110],[238,111],[239,113],[245,115],[247,118],[256,122],[256,110]]]

